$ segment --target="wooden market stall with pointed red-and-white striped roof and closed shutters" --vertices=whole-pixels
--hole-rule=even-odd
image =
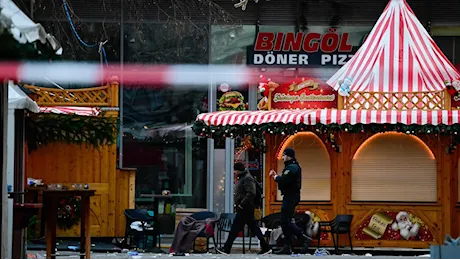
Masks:
[[[329,80],[261,76],[259,111],[200,114],[194,131],[254,140],[266,176],[294,148],[303,168],[297,210],[314,222],[353,215],[354,246],[427,248],[460,231],[459,80],[406,1],[391,0]],[[265,215],[279,212],[276,183],[264,187]],[[320,243],[332,238],[321,234]]]

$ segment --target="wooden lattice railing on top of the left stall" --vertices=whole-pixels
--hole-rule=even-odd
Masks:
[[[24,85],[31,90],[39,106],[118,107],[118,82],[102,87],[56,89]]]

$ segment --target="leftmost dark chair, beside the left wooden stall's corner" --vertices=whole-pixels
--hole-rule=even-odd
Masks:
[[[147,247],[148,236],[153,236],[153,243],[156,243],[158,236],[157,230],[155,230],[155,218],[150,216],[146,209],[126,209],[124,211],[126,217],[126,230],[125,230],[125,241],[126,247],[132,247],[132,239],[136,237],[136,247],[139,248],[139,238],[143,238],[144,249]],[[135,221],[141,222],[142,231],[131,229],[131,224]],[[147,225],[151,225],[153,229],[146,229]],[[128,244],[129,238],[129,244]]]

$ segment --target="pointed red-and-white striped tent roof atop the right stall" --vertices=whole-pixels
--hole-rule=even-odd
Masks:
[[[358,52],[327,83],[351,91],[440,91],[460,78],[405,0],[390,0]]]

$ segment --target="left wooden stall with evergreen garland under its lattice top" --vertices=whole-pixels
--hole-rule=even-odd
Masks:
[[[123,212],[134,208],[135,170],[117,169],[117,80],[83,89],[23,87],[40,106],[40,113],[26,117],[26,194],[40,199],[47,185],[87,185],[96,190],[91,197],[91,236],[123,237]],[[78,198],[59,202],[57,237],[79,236],[79,210]],[[44,227],[38,226],[36,235],[43,236]]]

